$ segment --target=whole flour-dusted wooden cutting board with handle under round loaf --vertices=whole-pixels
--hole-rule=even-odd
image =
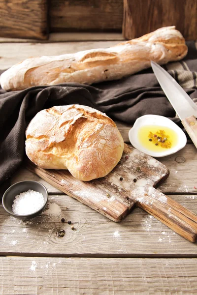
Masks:
[[[67,170],[42,169],[31,161],[27,168],[113,221],[121,221],[135,205],[189,241],[197,238],[197,215],[155,188],[169,176],[169,170],[126,144],[117,166],[106,177],[91,181],[77,180]]]

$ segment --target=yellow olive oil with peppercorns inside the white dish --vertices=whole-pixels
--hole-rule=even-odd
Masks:
[[[178,135],[166,126],[145,125],[138,130],[138,140],[144,148],[162,152],[177,145]]]

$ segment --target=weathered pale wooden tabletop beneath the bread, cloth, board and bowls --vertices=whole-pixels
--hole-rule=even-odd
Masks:
[[[83,41],[64,42],[61,35],[53,43],[0,39],[0,69],[29,56],[120,42],[80,38]],[[131,126],[116,123],[129,143]],[[197,214],[195,146],[187,144],[160,161],[169,168],[170,176],[159,190]],[[197,294],[197,243],[178,236],[140,208],[115,223],[23,167],[13,175],[11,184],[28,179],[46,186],[47,208],[54,209],[23,222],[8,215],[0,203],[0,295]],[[57,236],[61,229],[64,237]]]

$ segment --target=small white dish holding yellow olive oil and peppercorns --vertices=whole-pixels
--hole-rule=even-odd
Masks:
[[[187,138],[183,130],[163,116],[145,115],[136,119],[129,131],[134,148],[153,157],[164,157],[184,148]]]

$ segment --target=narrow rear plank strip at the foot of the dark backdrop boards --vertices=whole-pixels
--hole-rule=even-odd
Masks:
[[[63,33],[50,33],[48,40],[39,40],[41,43],[53,42],[75,42],[75,41],[115,41],[125,40],[121,33],[102,33],[102,32],[63,32]],[[27,43],[37,42],[34,39],[19,39],[19,38],[3,38],[0,37],[0,43]]]

